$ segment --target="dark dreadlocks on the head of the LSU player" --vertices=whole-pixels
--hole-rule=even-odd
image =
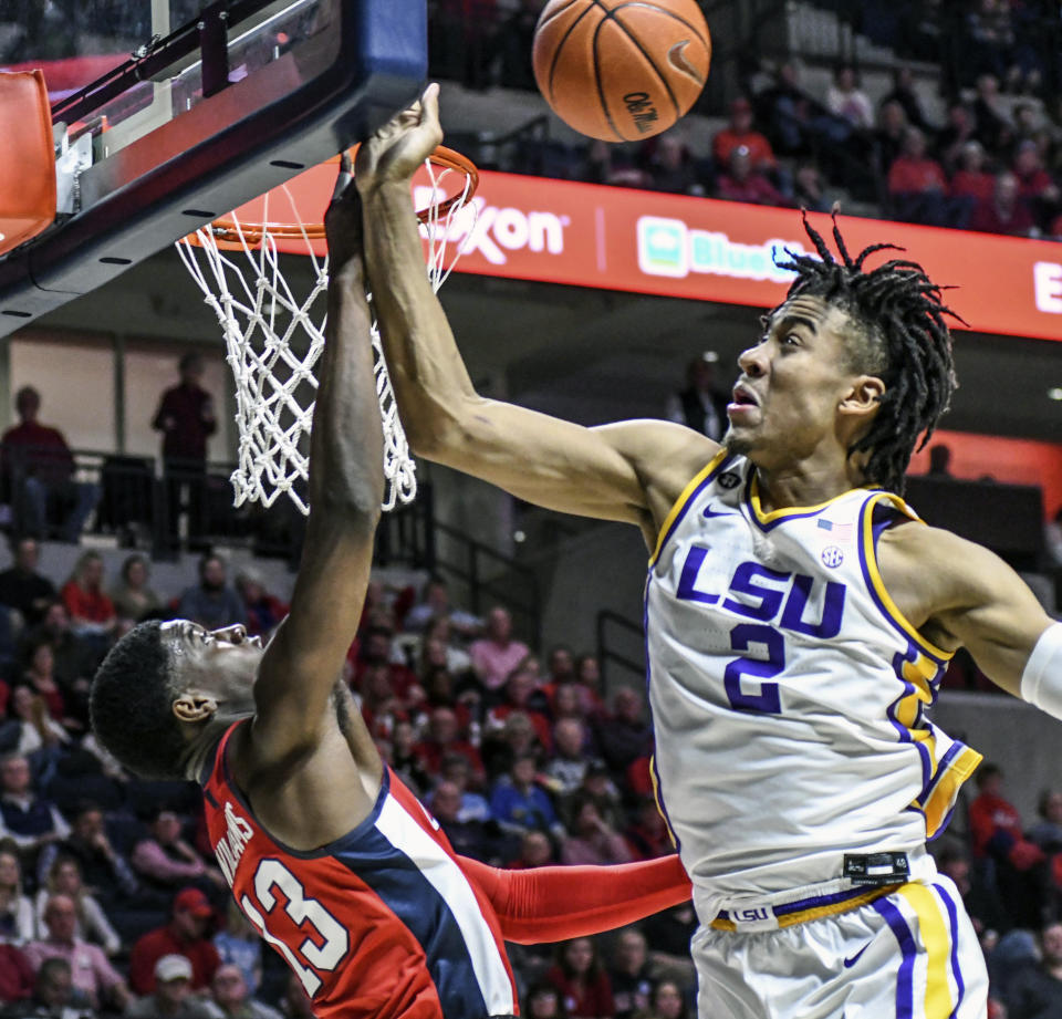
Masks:
[[[902,495],[904,475],[919,434],[925,433],[918,445],[922,449],[938,418],[948,409],[958,385],[951,335],[944,316],[951,315],[959,322],[962,319],[941,302],[940,293],[947,288],[934,283],[917,262],[892,259],[864,271],[863,264],[871,254],[903,248],[871,245],[853,259],[834,211],[833,239],[841,256],[841,261],[836,261],[809,222],[806,211],[803,220],[819,258],[787,249],[790,260],[778,266],[796,273],[787,300],[821,298],[852,321],[852,366],[881,377],[885,393],[871,427],[848,447],[848,456],[868,451],[866,481]]]

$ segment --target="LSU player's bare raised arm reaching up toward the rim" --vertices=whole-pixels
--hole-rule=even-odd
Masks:
[[[540,506],[635,523],[655,541],[716,444],[657,420],[585,428],[476,393],[425,274],[409,200],[414,173],[441,137],[431,85],[357,156],[373,302],[414,451]]]

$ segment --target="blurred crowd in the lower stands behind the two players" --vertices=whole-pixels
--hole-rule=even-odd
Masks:
[[[174,592],[153,589],[140,555],[107,578],[87,551],[65,583],[38,555],[24,538],[0,571],[0,1017],[309,1016],[230,901],[198,790],[123,773],[86,716],[95,665],[135,622],[187,615],[268,635],[287,606],[253,572],[230,585],[217,555]],[[593,655],[540,656],[503,607],[478,618],[431,578],[420,592],[369,585],[347,665],[381,752],[459,853],[529,867],[673,852],[644,695],[606,696]],[[998,768],[978,784],[969,838],[948,836],[940,865],[991,960],[997,1015],[1031,1019],[1062,989],[1062,790],[1030,823]],[[687,905],[600,938],[512,946],[524,1012],[688,1017],[694,929]]]

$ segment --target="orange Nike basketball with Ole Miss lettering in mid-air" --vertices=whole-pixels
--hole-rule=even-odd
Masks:
[[[637,142],[694,105],[711,38],[695,0],[550,0],[532,61],[565,124],[605,142]]]

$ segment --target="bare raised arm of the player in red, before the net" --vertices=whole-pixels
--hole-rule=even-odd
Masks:
[[[347,170],[348,163],[337,194],[350,180]],[[310,443],[311,511],[291,611],[266,651],[254,686],[260,762],[305,755],[334,717],[331,700],[361,617],[383,498],[383,428],[353,187],[333,200],[325,227],[331,280]],[[363,729],[352,749],[358,763],[378,767]]]

